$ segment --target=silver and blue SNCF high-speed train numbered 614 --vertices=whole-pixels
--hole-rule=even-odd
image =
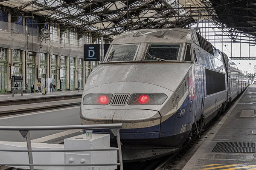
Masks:
[[[249,84],[193,29],[129,31],[113,40],[88,77],[81,123],[122,123],[124,161],[153,159],[200,135]]]

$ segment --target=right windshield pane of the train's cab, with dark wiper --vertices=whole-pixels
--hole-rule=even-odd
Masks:
[[[149,44],[144,60],[177,60],[179,51],[180,44]]]

